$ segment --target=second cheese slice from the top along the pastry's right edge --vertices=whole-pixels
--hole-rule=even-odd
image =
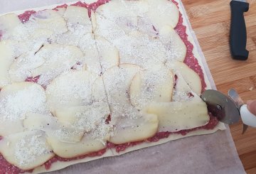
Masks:
[[[186,58],[186,45],[178,33],[170,26],[164,26],[159,31],[159,39],[164,44],[168,58],[183,62]]]

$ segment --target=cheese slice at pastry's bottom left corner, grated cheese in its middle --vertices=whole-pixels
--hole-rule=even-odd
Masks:
[[[0,141],[2,156],[21,170],[36,168],[53,158],[43,131],[25,131],[5,136]]]

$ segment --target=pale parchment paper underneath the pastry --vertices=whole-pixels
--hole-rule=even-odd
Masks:
[[[62,4],[74,0],[0,0],[0,13],[32,9],[52,4]],[[85,0],[92,2],[94,0]],[[178,0],[179,1],[179,0]],[[206,64],[198,40],[193,32],[186,11],[179,1],[180,9],[183,11],[183,18],[188,23],[188,30],[191,32],[196,48],[201,57],[205,73],[210,85],[215,89],[213,78]],[[242,163],[227,126],[225,131],[218,131],[215,134],[192,136],[171,141],[159,146],[143,148],[139,151],[126,153],[122,156],[101,158],[100,160],[88,163],[72,165],[64,170],[52,172],[53,174],[66,173],[218,173],[218,174],[241,174],[245,173]]]

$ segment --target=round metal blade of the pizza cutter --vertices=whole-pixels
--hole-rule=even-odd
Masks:
[[[235,124],[240,120],[240,110],[233,100],[213,89],[208,89],[201,94],[208,110],[225,124]]]

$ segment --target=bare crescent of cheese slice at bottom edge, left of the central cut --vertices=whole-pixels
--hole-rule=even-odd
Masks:
[[[105,143],[109,140],[109,135],[103,139],[92,138],[93,134],[85,134],[78,143],[65,143],[61,142],[55,136],[48,136],[47,141],[53,148],[53,152],[62,158],[75,158],[83,156],[88,153],[100,151],[106,147]]]

